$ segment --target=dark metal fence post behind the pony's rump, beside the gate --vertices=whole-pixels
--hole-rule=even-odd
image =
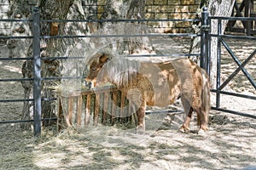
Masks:
[[[200,66],[203,69],[206,69],[207,74],[210,74],[210,55],[209,55],[209,31],[211,26],[209,25],[209,12],[207,11],[207,7],[203,8],[201,13],[201,58],[200,58]]]

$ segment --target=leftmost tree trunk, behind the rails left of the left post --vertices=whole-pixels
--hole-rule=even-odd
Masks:
[[[30,19],[32,18],[31,8],[28,2],[22,0],[10,0],[9,1],[9,18],[11,19]],[[34,4],[35,5],[35,4]],[[32,26],[29,23],[13,22],[11,23],[12,36],[32,36]],[[18,31],[20,30],[20,31]],[[8,47],[10,48],[9,57],[31,57],[32,56],[32,40],[31,39],[13,39],[9,40]],[[24,69],[27,67],[27,69]],[[32,60],[27,60],[22,65],[22,74],[25,78],[32,78]],[[22,81],[22,87],[24,88],[24,99],[32,99],[32,87],[31,81]],[[23,104],[21,120],[30,119],[32,116],[32,102],[26,101]],[[21,128],[30,128],[31,123],[22,123]]]

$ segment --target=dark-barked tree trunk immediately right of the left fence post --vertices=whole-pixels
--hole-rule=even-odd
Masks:
[[[67,14],[73,5],[74,0],[54,0],[54,1],[41,1],[39,8],[41,9],[42,19],[44,20],[66,20]],[[57,36],[66,35],[65,22],[44,22],[42,23],[42,36]],[[49,38],[44,40],[44,49],[42,50],[41,57],[56,57],[62,53],[62,38]],[[66,46],[65,46],[66,47]],[[50,59],[44,60],[42,63],[42,77],[61,77],[60,71],[61,60]],[[55,94],[52,90],[45,87],[55,86],[55,80],[44,81],[42,83],[42,98],[53,99]],[[55,103],[52,100],[42,101],[42,117],[50,118],[55,117]],[[51,122],[43,122],[43,126],[49,126]]]

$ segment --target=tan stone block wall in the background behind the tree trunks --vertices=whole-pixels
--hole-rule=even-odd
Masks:
[[[25,0],[32,6],[35,0]],[[100,19],[107,0],[81,0],[84,12],[88,19]],[[195,12],[199,7],[200,0],[146,0],[146,19],[191,19],[195,18]],[[29,7],[29,8],[32,8]],[[0,0],[0,19],[8,19],[9,0]],[[162,21],[148,22],[148,26],[164,32],[189,32],[190,22]],[[10,35],[11,24],[0,22],[0,34]]]

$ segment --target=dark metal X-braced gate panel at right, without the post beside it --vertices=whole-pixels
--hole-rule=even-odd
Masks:
[[[232,51],[230,48],[228,42],[226,42],[226,39],[232,39],[234,41],[236,40],[249,40],[249,41],[255,41],[256,37],[250,37],[250,36],[234,36],[234,35],[221,35],[220,31],[222,29],[222,20],[242,20],[242,21],[253,21],[256,20],[256,18],[235,18],[235,17],[209,17],[209,20],[218,20],[218,33],[217,34],[210,34],[209,37],[217,37],[218,38],[218,55],[217,55],[217,82],[216,87],[212,89],[213,93],[216,93],[216,105],[212,106],[212,109],[217,111],[225,111],[230,112],[232,114],[240,115],[240,116],[248,116],[251,118],[256,118],[255,114],[247,114],[247,113],[241,113],[239,111],[232,111],[229,109],[224,109],[220,107],[220,100],[221,96],[220,94],[229,95],[229,96],[236,96],[242,99],[252,99],[255,100],[256,96],[253,94],[247,95],[247,94],[241,94],[241,93],[234,93],[234,92],[227,92],[224,90],[224,88],[228,85],[230,81],[234,79],[234,77],[237,76],[237,74],[241,71],[243,73],[243,76],[247,78],[247,80],[250,82],[251,87],[256,90],[256,82],[255,82],[255,75],[250,74],[249,71],[247,71],[246,66],[247,65],[254,65],[253,64],[253,57],[255,57],[256,49],[253,50],[251,54],[247,56],[246,59],[244,59],[242,62],[238,58],[238,56]],[[211,39],[210,39],[211,41]],[[229,77],[224,80],[224,82],[221,82],[221,65],[222,65],[222,47],[228,52],[230,55],[230,59],[233,59],[236,63],[236,70],[233,71]],[[253,77],[254,76],[254,77]],[[256,106],[255,106],[256,109]]]

